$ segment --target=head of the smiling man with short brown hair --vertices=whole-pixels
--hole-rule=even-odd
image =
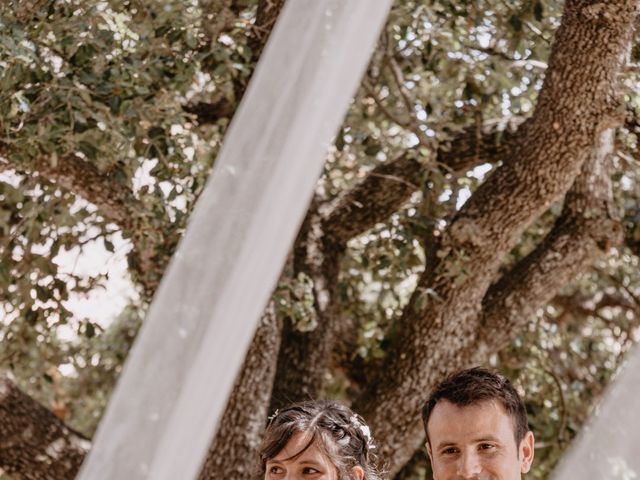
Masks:
[[[509,380],[484,368],[437,385],[422,409],[434,480],[521,480],[533,433]]]

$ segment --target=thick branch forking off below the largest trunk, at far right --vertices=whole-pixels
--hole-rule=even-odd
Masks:
[[[482,301],[478,352],[504,346],[526,326],[536,309],[548,303],[597,254],[622,241],[609,177],[612,151],[613,131],[607,130],[567,193],[564,210],[551,232],[487,291]]]

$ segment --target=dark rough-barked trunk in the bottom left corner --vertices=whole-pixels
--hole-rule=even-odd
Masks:
[[[90,443],[0,372],[0,466],[16,480],[72,479]]]

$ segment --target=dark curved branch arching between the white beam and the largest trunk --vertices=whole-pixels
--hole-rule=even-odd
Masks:
[[[487,162],[499,162],[516,134],[512,122],[491,122],[470,127],[438,152],[439,163],[460,172]],[[271,409],[316,397],[331,361],[357,340],[357,324],[341,313],[337,295],[340,262],[347,242],[376,223],[386,221],[420,189],[424,166],[410,155],[374,168],[358,185],[329,204],[314,202],[294,247],[295,271],[314,282],[318,325],[312,332],[284,324],[282,348]]]

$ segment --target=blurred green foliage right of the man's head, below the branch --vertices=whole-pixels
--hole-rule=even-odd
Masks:
[[[553,466],[640,339],[638,257],[613,252],[567,286],[493,364],[526,394],[538,448],[531,478]]]

